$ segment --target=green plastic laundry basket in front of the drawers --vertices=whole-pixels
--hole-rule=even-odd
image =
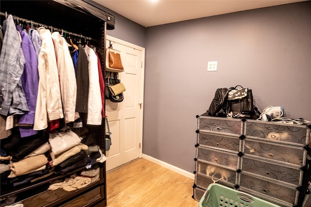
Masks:
[[[220,184],[209,184],[199,207],[279,207],[247,193]]]

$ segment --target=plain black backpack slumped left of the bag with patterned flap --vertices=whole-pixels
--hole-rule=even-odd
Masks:
[[[231,89],[231,88],[230,88]],[[213,117],[226,117],[227,98],[228,98],[228,88],[217,88],[215,92],[215,97],[208,108],[208,115]]]

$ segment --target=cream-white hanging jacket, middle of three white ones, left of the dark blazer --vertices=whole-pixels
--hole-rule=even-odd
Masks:
[[[68,123],[79,118],[79,114],[75,113],[77,98],[76,76],[67,41],[58,32],[52,33],[52,39],[56,54],[65,122]]]

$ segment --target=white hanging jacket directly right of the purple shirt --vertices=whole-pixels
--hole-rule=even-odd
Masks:
[[[38,57],[39,87],[35,108],[35,130],[48,127],[50,121],[64,118],[55,49],[50,30],[38,28],[42,46]]]

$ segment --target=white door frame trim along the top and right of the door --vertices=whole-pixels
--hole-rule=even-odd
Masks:
[[[139,97],[139,102],[142,104],[142,108],[140,110],[140,114],[139,114],[139,119],[141,120],[141,124],[139,126],[139,143],[140,143],[140,148],[139,148],[139,158],[142,157],[142,129],[143,129],[143,111],[144,111],[144,79],[145,79],[145,48],[140,47],[138,45],[135,45],[133,43],[130,42],[126,42],[124,40],[118,39],[116,37],[110,36],[110,35],[106,35],[106,40],[107,41],[111,41],[112,43],[118,43],[121,45],[124,45],[126,47],[130,47],[133,48],[134,50],[138,50],[141,51],[141,85],[140,85],[140,90],[141,90],[141,94]],[[109,46],[108,46],[109,47]]]

